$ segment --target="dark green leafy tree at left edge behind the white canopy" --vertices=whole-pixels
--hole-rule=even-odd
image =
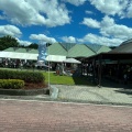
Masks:
[[[3,51],[9,47],[18,47],[18,46],[19,43],[14,37],[10,35],[0,37],[0,51]]]

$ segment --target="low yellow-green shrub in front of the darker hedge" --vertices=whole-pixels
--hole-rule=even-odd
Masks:
[[[20,79],[0,79],[0,89],[22,89],[24,80]]]

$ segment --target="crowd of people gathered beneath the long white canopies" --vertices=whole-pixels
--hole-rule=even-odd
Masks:
[[[48,66],[50,65],[50,66]],[[11,58],[2,58],[0,59],[0,67],[3,68],[16,68],[16,69],[41,69],[41,70],[53,70],[56,75],[68,75],[73,76],[77,73],[78,68],[75,64],[65,64],[65,63],[46,63],[42,65],[37,61],[25,61],[25,59],[11,59]]]

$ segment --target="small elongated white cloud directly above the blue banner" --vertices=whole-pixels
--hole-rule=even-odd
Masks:
[[[31,34],[30,35],[31,40],[37,40],[38,42],[46,42],[46,43],[55,43],[56,40],[53,37],[48,37],[44,34]]]

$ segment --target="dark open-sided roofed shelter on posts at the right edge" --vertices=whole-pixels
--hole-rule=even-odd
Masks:
[[[92,79],[101,86],[102,77],[118,82],[132,81],[132,42],[124,42],[119,47],[82,59],[82,74],[92,75]],[[124,76],[127,76],[124,78]]]

